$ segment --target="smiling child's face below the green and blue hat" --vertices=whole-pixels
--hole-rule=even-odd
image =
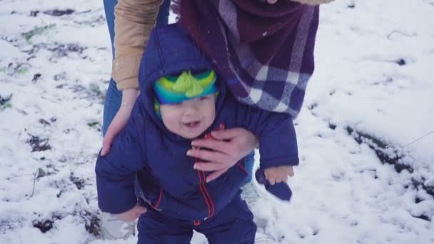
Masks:
[[[160,113],[169,131],[183,138],[196,138],[216,118],[216,98],[211,94],[182,103],[161,104]]]

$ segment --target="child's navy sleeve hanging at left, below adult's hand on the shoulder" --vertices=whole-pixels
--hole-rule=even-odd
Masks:
[[[137,105],[137,103],[136,103]],[[126,127],[113,140],[109,153],[96,160],[96,188],[99,208],[123,213],[137,203],[134,193],[136,172],[145,166],[143,117],[134,106]]]

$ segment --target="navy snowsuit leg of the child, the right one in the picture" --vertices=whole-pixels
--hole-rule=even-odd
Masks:
[[[238,195],[221,213],[196,230],[206,235],[210,244],[253,244],[256,224],[246,202]]]

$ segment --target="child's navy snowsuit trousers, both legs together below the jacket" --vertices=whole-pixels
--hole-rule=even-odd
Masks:
[[[190,243],[193,229],[203,233],[210,244],[253,244],[256,224],[240,195],[212,218],[194,225],[193,221],[172,220],[146,205],[148,211],[138,218],[138,244]]]

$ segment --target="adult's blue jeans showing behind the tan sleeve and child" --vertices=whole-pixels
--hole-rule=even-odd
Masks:
[[[117,0],[104,0],[104,11],[106,12],[107,26],[109,26],[109,34],[111,40],[111,51],[114,57],[114,6],[118,3]],[[164,0],[163,4],[160,6],[160,11],[158,12],[156,26],[163,26],[168,24],[168,12],[171,5],[170,0]],[[109,83],[109,88],[106,92],[106,101],[104,101],[104,116],[103,116],[103,136],[106,135],[107,128],[114,116],[119,110],[122,101],[122,93],[116,88],[116,83],[111,78]],[[253,153],[246,157],[246,171],[249,173],[246,178],[246,183],[250,182],[252,179],[253,171]]]

